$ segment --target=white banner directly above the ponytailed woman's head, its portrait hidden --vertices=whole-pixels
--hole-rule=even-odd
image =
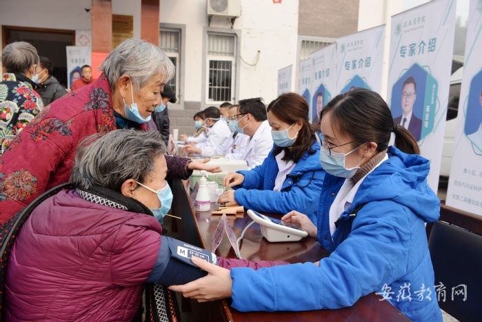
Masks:
[[[337,39],[337,93],[367,88],[380,93],[385,25]]]

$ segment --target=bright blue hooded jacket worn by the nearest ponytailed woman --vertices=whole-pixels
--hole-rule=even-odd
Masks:
[[[319,267],[234,268],[232,306],[240,311],[337,309],[377,292],[414,321],[442,321],[424,225],[439,219],[440,210],[426,180],[430,164],[394,147],[388,157],[361,183],[333,239],[329,211],[345,179],[326,174],[318,239],[332,252]]]

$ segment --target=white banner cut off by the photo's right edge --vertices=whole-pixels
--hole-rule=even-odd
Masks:
[[[447,204],[482,215],[482,1],[470,1]]]

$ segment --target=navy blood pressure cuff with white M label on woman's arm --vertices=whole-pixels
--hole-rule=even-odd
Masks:
[[[207,272],[192,263],[192,256],[198,256],[217,265],[217,256],[212,252],[171,237],[161,236],[161,247],[148,277],[148,283],[182,285],[206,276]]]

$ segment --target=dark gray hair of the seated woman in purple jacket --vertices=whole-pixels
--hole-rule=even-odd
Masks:
[[[141,183],[153,170],[154,158],[165,154],[158,131],[114,130],[86,137],[77,147],[70,181],[81,189],[93,185],[121,192],[122,183]]]

